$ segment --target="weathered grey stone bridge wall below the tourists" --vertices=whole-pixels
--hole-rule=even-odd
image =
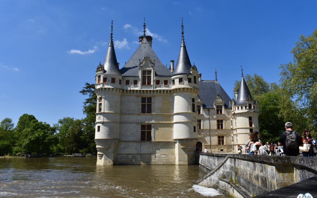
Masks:
[[[198,185],[231,197],[317,197],[317,158],[201,153],[199,167]]]

